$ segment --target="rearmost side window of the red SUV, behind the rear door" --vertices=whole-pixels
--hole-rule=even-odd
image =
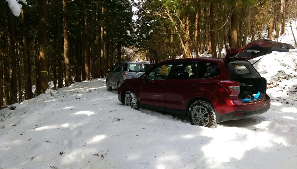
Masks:
[[[214,62],[200,62],[199,63],[199,79],[206,79],[221,74],[219,66]]]

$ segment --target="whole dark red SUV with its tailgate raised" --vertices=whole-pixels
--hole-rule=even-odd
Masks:
[[[225,58],[186,58],[159,62],[142,76],[125,80],[119,101],[138,107],[187,115],[194,125],[215,127],[227,120],[267,112],[270,98],[266,79],[249,59],[272,51],[288,52],[293,46],[255,40],[230,48]]]

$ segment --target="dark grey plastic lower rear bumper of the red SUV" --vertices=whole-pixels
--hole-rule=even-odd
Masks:
[[[266,107],[264,109],[258,109],[254,111],[233,111],[228,114],[219,114],[217,111],[215,111],[216,122],[219,123],[219,122],[228,121],[228,120],[239,120],[239,119],[254,117],[267,112],[269,108],[270,107]]]

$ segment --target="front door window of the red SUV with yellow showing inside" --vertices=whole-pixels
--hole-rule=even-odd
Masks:
[[[167,79],[172,65],[173,64],[168,63],[154,68],[154,70],[149,73],[147,79]]]

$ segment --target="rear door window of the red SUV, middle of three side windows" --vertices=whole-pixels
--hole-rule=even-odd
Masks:
[[[184,62],[175,65],[172,79],[195,79],[197,62]]]

